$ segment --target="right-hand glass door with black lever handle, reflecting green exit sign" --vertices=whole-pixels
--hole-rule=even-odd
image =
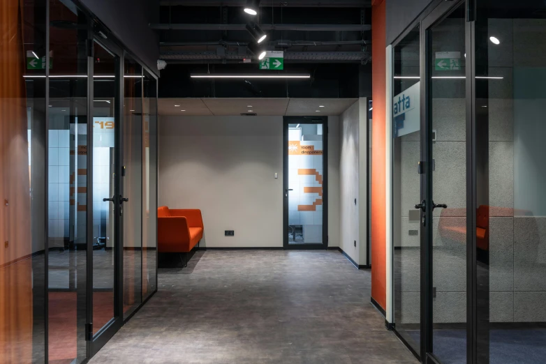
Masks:
[[[466,8],[425,18],[425,349],[466,363]]]

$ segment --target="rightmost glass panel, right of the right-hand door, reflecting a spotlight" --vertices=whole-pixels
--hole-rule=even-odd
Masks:
[[[546,3],[479,0],[479,363],[546,358]]]

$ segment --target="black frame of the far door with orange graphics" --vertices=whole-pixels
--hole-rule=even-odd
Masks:
[[[288,124],[323,125],[323,243],[288,243]],[[283,248],[286,250],[317,250],[328,248],[328,117],[284,116],[283,117]]]

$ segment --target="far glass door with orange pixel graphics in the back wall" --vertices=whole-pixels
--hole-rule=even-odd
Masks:
[[[327,118],[284,118],[285,249],[325,249]]]

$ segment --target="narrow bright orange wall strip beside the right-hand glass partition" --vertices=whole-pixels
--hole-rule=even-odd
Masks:
[[[371,5],[371,97],[374,103],[371,126],[371,297],[387,308],[386,206],[385,206],[385,1]]]

